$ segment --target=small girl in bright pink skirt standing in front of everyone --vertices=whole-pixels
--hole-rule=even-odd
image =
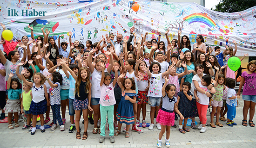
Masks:
[[[173,84],[168,84],[168,80],[166,76],[164,76],[165,83],[162,86],[162,109],[158,111],[156,122],[161,124],[161,131],[158,136],[157,140],[157,148],[162,147],[162,136],[166,129],[166,138],[165,138],[165,146],[167,148],[170,147],[170,130],[171,126],[175,123],[175,114],[174,110],[181,119],[183,120],[184,117],[182,116],[181,112],[178,110],[177,105],[177,98],[175,95],[176,86]],[[192,99],[192,97],[191,97]]]

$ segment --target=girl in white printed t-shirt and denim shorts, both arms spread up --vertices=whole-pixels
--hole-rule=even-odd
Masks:
[[[162,77],[164,75],[170,74],[172,71],[175,71],[175,68],[172,66],[170,67],[166,72],[160,73],[161,71],[161,65],[159,62],[152,62],[149,66],[143,67],[145,71],[148,74],[149,77],[149,91],[148,91],[148,97],[149,97],[149,102],[148,104],[150,105],[150,119],[151,119],[151,124],[149,125],[148,129],[152,130],[154,128],[154,115],[156,111],[156,115],[159,111],[159,106],[160,102],[162,100]],[[150,71],[149,71],[150,70]],[[153,73],[151,73],[153,72]],[[156,123],[157,129],[161,130],[161,125],[160,123]]]

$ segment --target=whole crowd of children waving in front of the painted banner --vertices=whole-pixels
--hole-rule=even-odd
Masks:
[[[5,25],[1,26],[5,30]],[[42,28],[44,37],[38,36],[35,40],[33,26],[29,28],[32,38],[30,41],[27,36],[23,36],[20,43],[3,38],[1,41],[4,52],[0,51],[0,79],[5,79],[6,83],[0,81],[0,87],[4,88],[0,93],[7,94],[7,102],[5,104],[5,100],[1,99],[0,105],[4,109],[2,114],[4,111],[8,113],[9,129],[13,129],[13,114],[14,125],[19,127],[18,114],[21,112],[26,117],[22,129],[29,129],[31,135],[34,135],[37,117],[40,116],[40,131],[44,132],[44,124],[51,120],[51,108],[51,130],[57,128],[58,121],[60,130],[63,131],[67,105],[71,122],[69,132],[76,129],[77,139],[87,139],[88,120],[91,120],[91,116],[88,119],[88,114],[93,111],[94,121],[90,122],[94,123],[93,134],[101,135],[100,143],[104,142],[106,136],[107,121],[111,143],[115,142],[114,136],[121,134],[122,123],[126,124],[123,129],[126,138],[129,137],[131,124],[132,131],[143,133],[143,129],[138,127],[141,124],[141,109],[142,127],[147,126],[147,104],[150,105],[148,129],[152,130],[156,125],[161,130],[158,148],[162,147],[165,131],[165,145],[170,147],[170,128],[176,126],[177,115],[180,117],[181,133],[189,132],[186,127],[188,118],[192,119],[191,128],[200,129],[204,133],[209,103],[212,105],[209,124],[212,128],[216,128],[213,121],[215,113],[217,126],[223,126],[219,119],[228,120],[229,126],[236,125],[233,121],[236,117],[236,99],[240,98],[243,85],[240,85],[239,95],[236,95],[235,73],[226,66],[228,59],[236,54],[235,42],[234,52],[231,47],[223,52],[220,52],[220,47],[215,47],[216,54],[211,55],[212,50],[206,48],[201,35],[196,37],[196,43],[191,49],[189,37],[180,37],[181,31],[178,33],[178,40],[172,41],[166,31],[166,47],[164,42],[160,42],[161,33],[158,40],[145,41],[148,33],[136,38],[132,27],[128,40],[121,41],[122,35],[118,34],[117,41],[114,42],[115,36],[109,34],[102,36],[98,43],[93,44],[88,40],[86,48],[79,41],[72,43],[72,33],[69,33],[68,47],[66,42],[60,40],[62,35],[59,36],[57,46],[54,38],[48,37],[47,29]],[[134,44],[131,44],[132,40]],[[254,90],[256,61],[249,62],[247,70],[246,74],[242,74],[244,87],[249,86],[246,89]],[[253,83],[250,82],[251,75],[254,76]],[[247,91],[246,95],[255,95],[252,92],[255,91]],[[251,98],[248,97],[248,101],[254,102],[253,97]],[[224,111],[225,106],[227,108]],[[228,119],[224,117],[226,112]],[[84,120],[83,135],[80,129],[81,114]],[[198,127],[195,126],[195,117],[200,119]],[[245,124],[244,121],[247,126],[247,120],[243,120]],[[249,124],[253,125],[253,122]],[[117,129],[116,132],[114,129]]]

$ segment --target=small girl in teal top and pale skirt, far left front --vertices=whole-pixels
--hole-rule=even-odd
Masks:
[[[20,87],[20,82],[17,78],[13,78],[14,76],[13,73],[9,74],[9,78],[7,80],[7,92],[8,92],[8,100],[5,105],[4,110],[8,112],[8,128],[13,129],[12,125],[12,117],[14,114],[15,118],[15,127],[19,127],[18,119],[19,119],[19,111],[20,111],[20,94],[21,94],[21,89]],[[2,96],[4,97],[4,96]]]

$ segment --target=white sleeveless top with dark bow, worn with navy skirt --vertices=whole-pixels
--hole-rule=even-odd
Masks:
[[[35,83],[33,83],[32,86],[32,94],[33,94],[33,101],[34,103],[38,103],[45,99],[45,92],[44,92],[44,86],[41,85],[40,87],[36,87]]]

